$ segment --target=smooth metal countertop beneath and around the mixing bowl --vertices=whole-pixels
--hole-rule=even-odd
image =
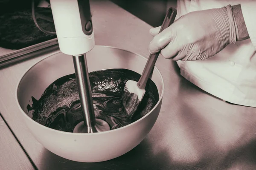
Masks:
[[[91,1],[91,8],[96,45],[148,56],[151,26],[106,0]],[[175,62],[163,57],[156,64],[165,82],[163,104],[143,142],[123,156],[99,163],[56,156],[20,122],[15,103],[21,75],[46,56],[0,70],[0,113],[39,170],[256,169],[256,108],[232,105],[205,93],[180,76]]]

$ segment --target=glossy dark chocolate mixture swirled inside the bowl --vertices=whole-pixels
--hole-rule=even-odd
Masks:
[[[129,118],[122,104],[125,83],[138,81],[140,74],[127,69],[107,69],[89,73],[95,117],[103,119],[111,130],[130,124],[145,116],[159,100],[157,87],[148,79],[145,96],[133,117]],[[83,121],[76,84],[76,75],[57,79],[44,91],[41,98],[32,97],[33,104],[27,106],[32,119],[47,127],[73,132]]]

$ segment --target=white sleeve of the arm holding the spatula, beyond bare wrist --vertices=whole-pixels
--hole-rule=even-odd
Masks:
[[[256,49],[256,0],[244,1],[240,5],[250,40]]]

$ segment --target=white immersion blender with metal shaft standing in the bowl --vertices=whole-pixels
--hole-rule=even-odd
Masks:
[[[62,53],[73,56],[83,121],[74,133],[110,130],[107,122],[95,119],[86,53],[95,46],[89,0],[50,0]],[[57,63],[56,63],[57,64]]]

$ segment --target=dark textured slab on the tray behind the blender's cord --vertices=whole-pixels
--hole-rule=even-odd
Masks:
[[[55,32],[51,9],[36,8],[35,11],[38,24],[48,31]],[[17,50],[57,37],[45,34],[35,26],[30,8],[1,13],[0,23],[2,48]]]

